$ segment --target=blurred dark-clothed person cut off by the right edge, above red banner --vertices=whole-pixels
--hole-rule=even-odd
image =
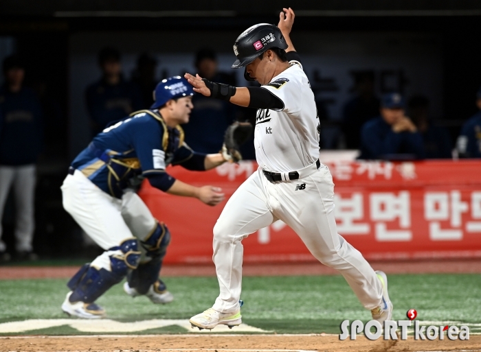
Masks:
[[[465,122],[456,141],[461,158],[481,158],[481,87],[476,94],[476,105],[480,110]]]

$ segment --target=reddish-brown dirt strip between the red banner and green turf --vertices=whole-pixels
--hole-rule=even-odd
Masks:
[[[481,258],[418,261],[372,261],[374,270],[387,274],[407,273],[481,273]],[[78,270],[77,266],[0,266],[1,279],[67,279]],[[321,263],[245,264],[244,276],[333,275],[337,272]],[[215,276],[214,264],[166,265],[163,277]]]

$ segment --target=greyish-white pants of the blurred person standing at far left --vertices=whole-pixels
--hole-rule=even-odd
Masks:
[[[17,251],[32,251],[34,239],[34,195],[36,167],[35,165],[0,166],[0,220],[3,215],[8,192],[13,186],[15,200],[15,248]],[[2,228],[0,223],[0,252],[5,243],[1,241]]]

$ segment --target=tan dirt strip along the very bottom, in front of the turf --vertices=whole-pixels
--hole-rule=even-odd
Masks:
[[[396,342],[396,343],[395,343]],[[323,335],[162,335],[162,336],[68,336],[0,338],[0,351],[322,351],[322,352],[407,352],[481,351],[481,336],[467,341],[339,341]]]

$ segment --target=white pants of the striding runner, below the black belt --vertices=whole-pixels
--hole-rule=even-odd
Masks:
[[[239,307],[241,241],[276,220],[289,225],[316,259],[338,270],[364,307],[373,309],[380,305],[382,286],[374,270],[337,233],[333,178],[328,167],[321,165],[309,176],[279,183],[269,182],[259,168],[225,204],[214,226],[212,259],[221,290],[213,306],[216,311],[234,312]]]

